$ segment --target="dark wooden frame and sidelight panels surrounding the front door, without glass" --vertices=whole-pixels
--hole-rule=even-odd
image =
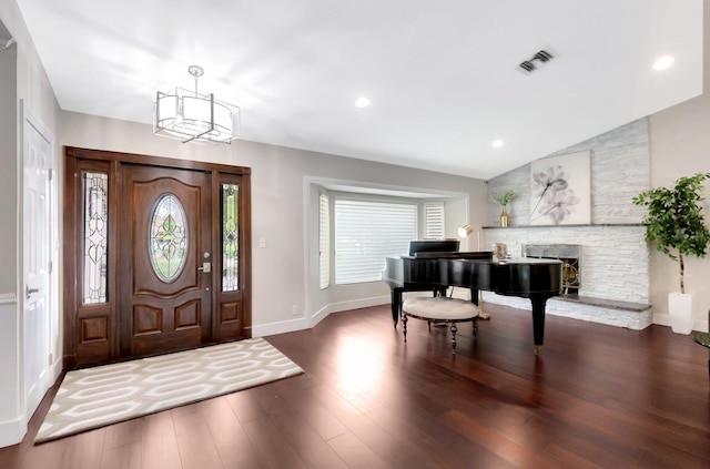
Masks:
[[[210,343],[219,343],[252,336],[252,298],[251,298],[251,169],[244,166],[230,166],[216,163],[186,161],[160,156],[148,156],[134,153],[120,153],[104,150],[64,147],[64,264],[63,264],[63,293],[64,293],[64,369],[99,363],[109,363],[126,357],[120,349],[120,295],[115,275],[109,275],[106,303],[97,305],[82,305],[81,285],[83,255],[83,213],[82,213],[82,171],[101,171],[109,174],[109,246],[108,268],[116,272],[120,253],[118,239],[121,233],[119,187],[126,164],[145,165],[155,167],[170,167],[178,170],[192,170],[205,172],[210,175],[212,200],[220,200],[221,184],[224,182],[240,181],[240,313],[241,327],[226,328],[227,334],[220,332],[219,316],[223,304],[233,304],[233,295],[223,294],[221,288],[222,272],[222,239],[221,239],[221,207],[219,203],[212,204],[212,337]],[[113,221],[113,222],[112,222]],[[125,313],[123,313],[125,314]],[[85,340],[80,337],[80,329],[91,328],[95,339]],[[204,344],[203,344],[204,345]]]

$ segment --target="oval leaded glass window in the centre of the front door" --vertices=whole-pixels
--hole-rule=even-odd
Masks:
[[[164,194],[155,204],[150,222],[148,246],[155,275],[172,282],[187,259],[187,216],[174,194]]]

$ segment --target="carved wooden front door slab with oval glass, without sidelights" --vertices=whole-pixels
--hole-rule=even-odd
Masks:
[[[212,201],[204,172],[129,165],[120,188],[121,355],[211,338]]]

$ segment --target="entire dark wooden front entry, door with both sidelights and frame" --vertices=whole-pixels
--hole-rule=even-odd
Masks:
[[[250,175],[65,147],[65,368],[251,337]]]

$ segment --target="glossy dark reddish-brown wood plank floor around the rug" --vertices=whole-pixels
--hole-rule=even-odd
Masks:
[[[487,305],[476,340],[388,307],[267,337],[305,374],[34,446],[42,404],[0,467],[710,468],[707,350],[690,336]]]

